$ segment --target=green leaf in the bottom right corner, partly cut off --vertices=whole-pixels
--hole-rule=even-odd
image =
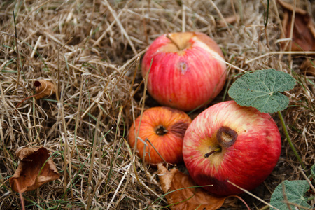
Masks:
[[[272,193],[270,204],[280,210],[289,209],[286,201],[302,207],[311,208],[307,204],[307,197],[304,195],[307,190],[309,190],[309,183],[306,180],[283,181],[279,186],[276,186],[274,193]],[[283,196],[283,192],[286,193],[286,198]],[[292,204],[290,207],[291,209],[295,209]]]

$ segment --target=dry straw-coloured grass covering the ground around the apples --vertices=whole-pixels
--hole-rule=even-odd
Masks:
[[[298,1],[297,6],[314,10],[306,2]],[[293,106],[283,114],[304,164],[313,165],[314,76],[300,73],[304,55],[291,59],[284,52],[274,53],[280,50],[276,11],[281,15],[281,9],[270,1],[265,34],[266,8],[265,1],[258,0],[0,1],[0,209],[21,208],[8,178],[18,165],[15,151],[25,146],[48,148],[62,174],[59,180],[24,193],[27,209],[160,209],[166,205],[159,199],[162,190],[155,169],[132,155],[125,139],[143,109],[144,85],[137,60],[155,38],[173,31],[202,31],[216,40],[231,64],[227,87],[236,74],[256,69],[279,69],[300,80],[287,93]],[[239,19],[225,27],[222,17],[233,15]],[[55,83],[57,95],[29,99],[15,109],[34,94],[32,82],[38,78]],[[212,104],[223,95],[224,91]],[[150,106],[158,104],[147,94],[144,109]],[[267,202],[282,179],[303,179],[284,139],[283,135],[276,169],[253,190]],[[248,195],[242,197],[253,208],[264,206]],[[224,208],[244,206],[229,200]]]

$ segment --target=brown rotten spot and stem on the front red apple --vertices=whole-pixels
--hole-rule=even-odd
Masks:
[[[235,130],[227,126],[221,126],[216,133],[216,144],[209,146],[210,151],[204,154],[204,158],[209,158],[214,154],[223,155],[226,148],[235,144],[237,136]]]

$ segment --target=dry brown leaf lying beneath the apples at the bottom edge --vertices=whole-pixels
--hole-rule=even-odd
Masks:
[[[197,185],[188,174],[183,174],[178,169],[168,171],[166,167],[159,164],[158,174],[160,185],[165,193],[176,190],[165,195],[172,210],[214,210],[219,209],[225,201],[225,197],[214,197],[200,187],[189,188]]]

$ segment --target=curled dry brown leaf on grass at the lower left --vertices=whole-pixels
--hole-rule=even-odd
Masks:
[[[22,148],[15,155],[20,159],[20,163],[9,179],[10,186],[15,192],[35,190],[44,183],[59,178],[55,163],[51,158],[47,160],[50,155],[46,148]]]

